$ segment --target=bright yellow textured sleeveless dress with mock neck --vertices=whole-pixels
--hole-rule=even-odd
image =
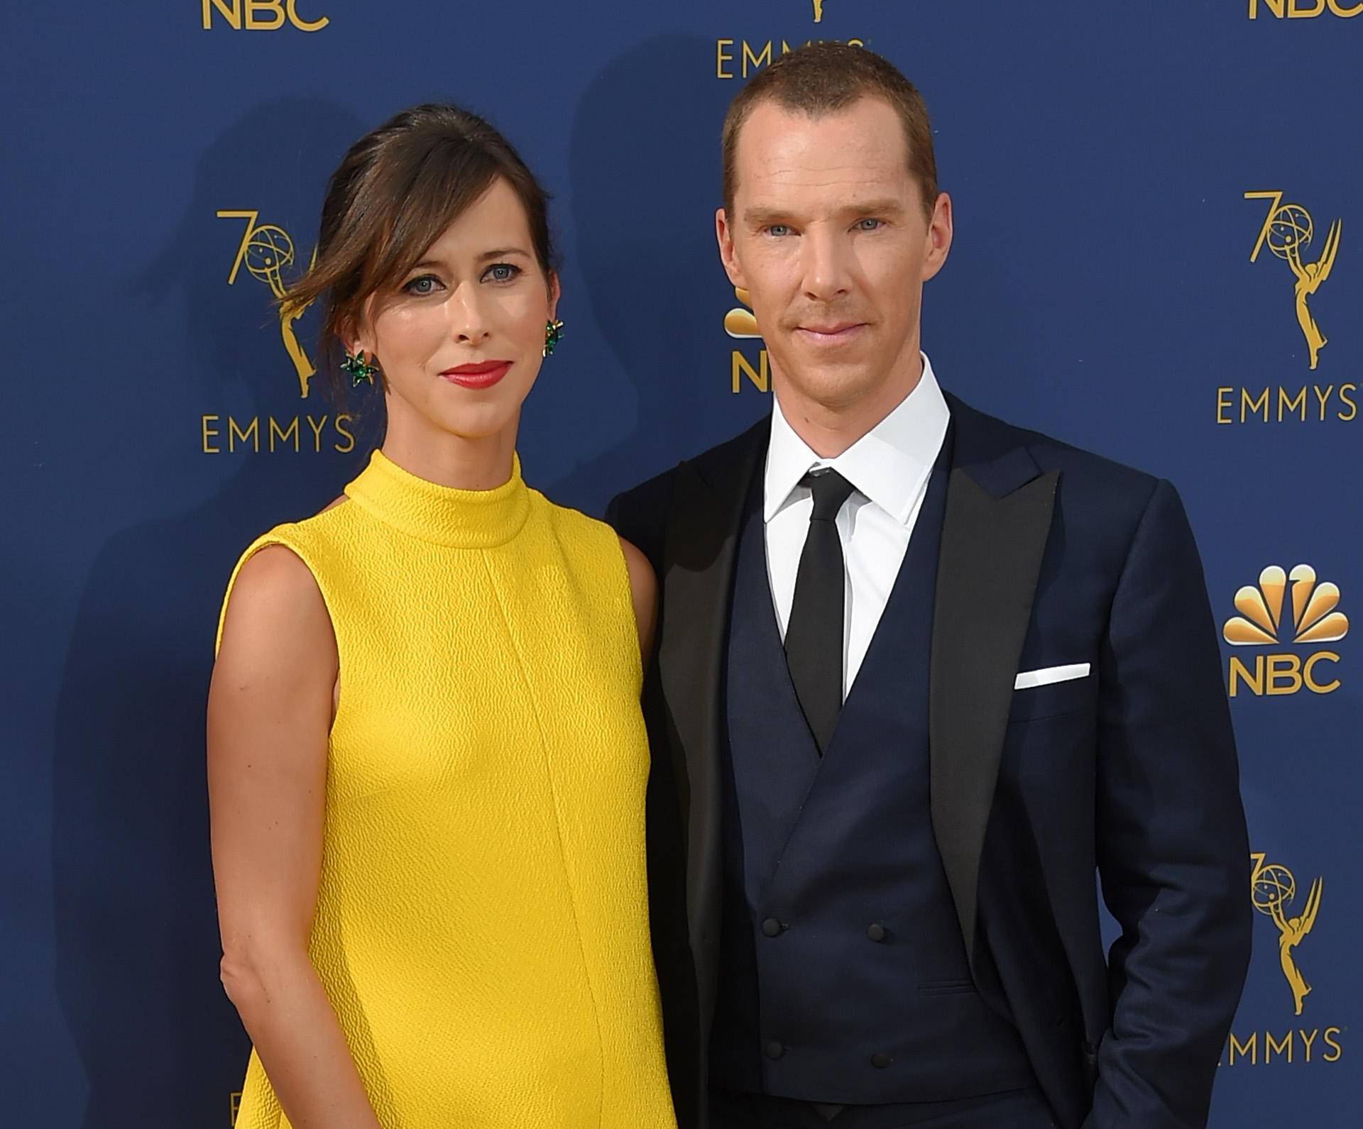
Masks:
[[[376,452],[346,496],[241,561],[292,549],[335,629],[309,952],[379,1122],[673,1129],[615,532],[519,460],[454,490]],[[252,1053],[237,1129],[288,1125]]]

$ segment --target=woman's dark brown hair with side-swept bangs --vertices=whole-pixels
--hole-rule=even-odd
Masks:
[[[450,105],[413,106],[350,146],[327,185],[312,268],[282,300],[285,309],[301,309],[322,298],[319,355],[334,388],[345,388],[341,347],[369,296],[397,287],[497,177],[525,207],[534,256],[551,276],[548,193],[477,114]]]

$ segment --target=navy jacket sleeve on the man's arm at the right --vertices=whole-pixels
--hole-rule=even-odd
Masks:
[[[1216,626],[1168,482],[1131,539],[1099,677],[1099,873],[1122,934],[1084,1129],[1194,1129],[1244,985],[1253,907]]]

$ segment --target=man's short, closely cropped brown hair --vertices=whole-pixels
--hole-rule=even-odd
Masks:
[[[936,204],[936,157],[928,108],[900,69],[866,48],[846,44],[808,44],[781,56],[761,71],[729,104],[724,117],[724,210],[733,214],[737,189],[739,131],[754,106],[776,102],[808,117],[845,110],[861,98],[883,98],[900,116],[909,154],[909,172],[923,192],[923,210],[931,218]]]

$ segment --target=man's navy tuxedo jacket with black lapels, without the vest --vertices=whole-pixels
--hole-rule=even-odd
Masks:
[[[947,400],[930,786],[966,952],[1065,1129],[1202,1126],[1253,908],[1183,507],[1168,482]],[[608,515],[661,587],[645,688],[650,912],[683,1129],[705,1125],[724,652],[740,511],[769,429],[620,494]],[[1075,663],[1089,675],[1014,689],[1020,671]],[[1122,927],[1105,955],[1094,873]]]

